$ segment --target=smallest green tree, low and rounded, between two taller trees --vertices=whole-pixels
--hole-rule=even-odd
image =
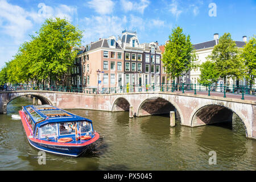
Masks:
[[[203,85],[213,84],[218,81],[220,73],[216,69],[215,63],[210,60],[205,61],[200,65],[200,78],[199,82]]]

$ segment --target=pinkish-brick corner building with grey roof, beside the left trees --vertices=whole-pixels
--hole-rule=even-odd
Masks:
[[[114,88],[123,80],[123,49],[114,36],[99,39],[85,46],[79,55],[82,65],[82,86]]]

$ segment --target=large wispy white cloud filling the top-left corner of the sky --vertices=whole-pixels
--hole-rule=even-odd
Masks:
[[[35,24],[43,23],[46,18],[57,16],[72,21],[73,16],[76,15],[76,8],[67,5],[51,7],[41,3],[41,9],[39,8],[39,11],[35,12],[11,5],[6,0],[0,0],[0,4],[1,32],[13,38],[15,44],[22,43],[28,35],[28,31],[34,28]]]

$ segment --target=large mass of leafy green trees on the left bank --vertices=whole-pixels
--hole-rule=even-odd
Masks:
[[[66,19],[47,19],[30,42],[20,46],[10,61],[6,73],[11,83],[35,81],[43,84],[55,80],[65,84],[65,76],[72,67],[81,45],[82,32]],[[2,72],[3,73],[3,72]]]

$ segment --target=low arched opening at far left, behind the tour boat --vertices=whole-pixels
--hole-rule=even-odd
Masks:
[[[52,105],[47,98],[38,95],[24,94],[22,96],[11,97],[10,100],[3,106],[3,114],[15,113],[22,106],[26,105]]]

